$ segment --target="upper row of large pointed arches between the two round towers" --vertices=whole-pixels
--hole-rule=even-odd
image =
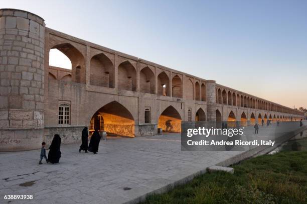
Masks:
[[[52,58],[52,51],[54,49],[62,52],[67,60],[70,60],[71,74],[68,74],[66,81],[74,81],[86,83],[86,68],[85,57],[72,44],[62,43],[51,47],[49,52],[49,64],[57,59]],[[57,55],[58,57],[58,55]],[[124,60],[117,66],[117,87],[119,90],[137,90],[137,71],[134,62]],[[56,64],[60,66],[59,64]],[[90,58],[90,76],[89,81],[91,85],[114,88],[115,86],[115,68],[114,59],[111,59],[107,53],[98,53]],[[69,67],[64,67],[69,68]],[[50,79],[57,79],[54,74],[50,72]],[[70,78],[69,78],[70,77]],[[161,71],[157,76],[157,93],[158,95],[173,96],[183,98],[183,84],[185,84],[185,98],[195,100],[206,100],[206,84],[202,81],[194,81],[193,78],[185,77],[181,74],[175,74],[170,78],[166,71]],[[183,83],[183,80],[184,83]],[[171,85],[172,84],[172,85]],[[171,87],[172,86],[172,87]],[[156,93],[156,76],[155,70],[150,66],[145,66],[139,72],[139,91],[145,93]]]

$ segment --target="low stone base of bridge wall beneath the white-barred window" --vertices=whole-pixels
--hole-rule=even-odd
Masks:
[[[45,127],[44,141],[47,146],[51,144],[54,134],[59,134],[62,141],[61,144],[81,142],[82,127]]]

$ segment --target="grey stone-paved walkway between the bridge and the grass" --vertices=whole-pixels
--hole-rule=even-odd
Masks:
[[[124,203],[240,153],[181,151],[180,134],[101,140],[98,154],[79,145],[62,145],[58,164],[38,165],[40,150],[0,153],[0,203]]]

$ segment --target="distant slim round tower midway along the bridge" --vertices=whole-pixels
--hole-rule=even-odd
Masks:
[[[215,92],[215,80],[206,81],[206,98],[207,98],[207,119],[208,121],[215,121],[216,115],[216,92]]]

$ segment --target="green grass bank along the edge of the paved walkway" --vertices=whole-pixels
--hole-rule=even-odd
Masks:
[[[205,173],[142,203],[307,203],[307,151],[262,155],[232,167],[234,174]]]

